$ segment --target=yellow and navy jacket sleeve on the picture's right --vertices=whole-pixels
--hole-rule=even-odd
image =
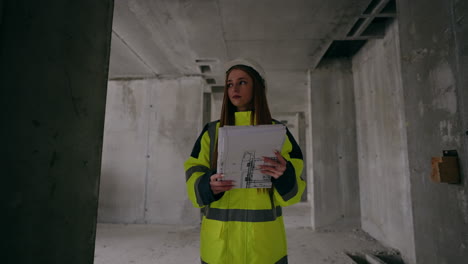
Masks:
[[[287,128],[281,155],[286,159],[286,170],[278,179],[272,178],[272,183],[277,203],[288,206],[301,200],[306,183],[301,177],[304,167],[301,149]]]

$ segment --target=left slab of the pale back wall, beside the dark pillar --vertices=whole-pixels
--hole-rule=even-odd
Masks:
[[[143,223],[151,81],[110,81],[99,195],[100,222]]]

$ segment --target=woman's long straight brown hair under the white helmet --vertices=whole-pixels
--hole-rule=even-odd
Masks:
[[[232,70],[237,69],[247,73],[253,81],[253,95],[250,111],[252,111],[250,124],[251,125],[267,125],[271,124],[271,113],[270,108],[268,107],[268,102],[266,98],[266,87],[265,80],[260,76],[260,74],[254,70],[252,67],[246,65],[235,65],[229,68],[226,72],[226,78],[224,82],[224,97],[223,105],[221,108],[221,118],[219,127],[223,126],[233,126],[236,123],[235,112],[237,108],[231,103],[228,95],[227,81],[229,74]],[[215,149],[213,151],[213,156],[211,157],[211,168],[214,169],[217,167],[218,161],[218,142],[216,142]],[[260,189],[259,189],[260,190]]]

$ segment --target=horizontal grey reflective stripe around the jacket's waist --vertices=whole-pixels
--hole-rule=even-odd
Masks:
[[[275,209],[247,210],[247,209],[220,209],[211,207],[206,212],[206,218],[218,221],[237,221],[237,222],[268,222],[275,221],[277,217],[282,216],[281,206]]]

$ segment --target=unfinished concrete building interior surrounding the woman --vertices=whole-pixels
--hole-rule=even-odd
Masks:
[[[238,57],[304,154],[290,263],[468,263],[466,0],[2,0],[0,34],[2,263],[199,263],[183,163]]]

